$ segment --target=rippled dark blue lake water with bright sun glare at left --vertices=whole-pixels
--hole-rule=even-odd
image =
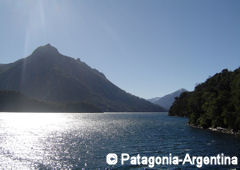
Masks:
[[[240,159],[239,137],[186,123],[187,119],[167,113],[0,113],[0,169],[144,169],[108,166],[108,153],[179,157],[224,153]]]

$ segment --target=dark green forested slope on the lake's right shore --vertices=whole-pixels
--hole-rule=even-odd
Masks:
[[[189,124],[240,130],[240,68],[222,70],[175,99],[170,116],[185,116]]]

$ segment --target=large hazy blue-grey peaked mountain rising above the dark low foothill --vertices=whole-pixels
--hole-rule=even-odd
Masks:
[[[84,103],[104,112],[163,111],[123,91],[80,59],[60,54],[50,44],[40,46],[27,58],[1,64],[0,90],[20,91],[47,102]]]

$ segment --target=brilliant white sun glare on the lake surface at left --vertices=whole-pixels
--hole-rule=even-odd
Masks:
[[[1,168],[35,169],[48,160],[48,138],[68,128],[64,113],[0,113]]]

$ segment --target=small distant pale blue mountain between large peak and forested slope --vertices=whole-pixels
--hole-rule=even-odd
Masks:
[[[157,104],[159,106],[162,106],[164,109],[169,110],[171,105],[173,104],[175,97],[179,97],[181,93],[185,92],[187,90],[185,89],[179,89],[173,93],[167,94],[163,97],[155,97],[152,99],[148,99],[148,101]]]

